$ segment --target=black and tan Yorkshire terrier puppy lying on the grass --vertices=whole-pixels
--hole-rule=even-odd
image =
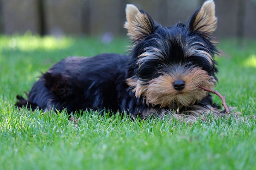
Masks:
[[[204,86],[217,78],[215,3],[208,0],[182,24],[162,27],[148,13],[126,6],[129,55],[100,54],[59,61],[35,82],[18,107],[44,111],[109,109],[132,116],[219,113]]]

